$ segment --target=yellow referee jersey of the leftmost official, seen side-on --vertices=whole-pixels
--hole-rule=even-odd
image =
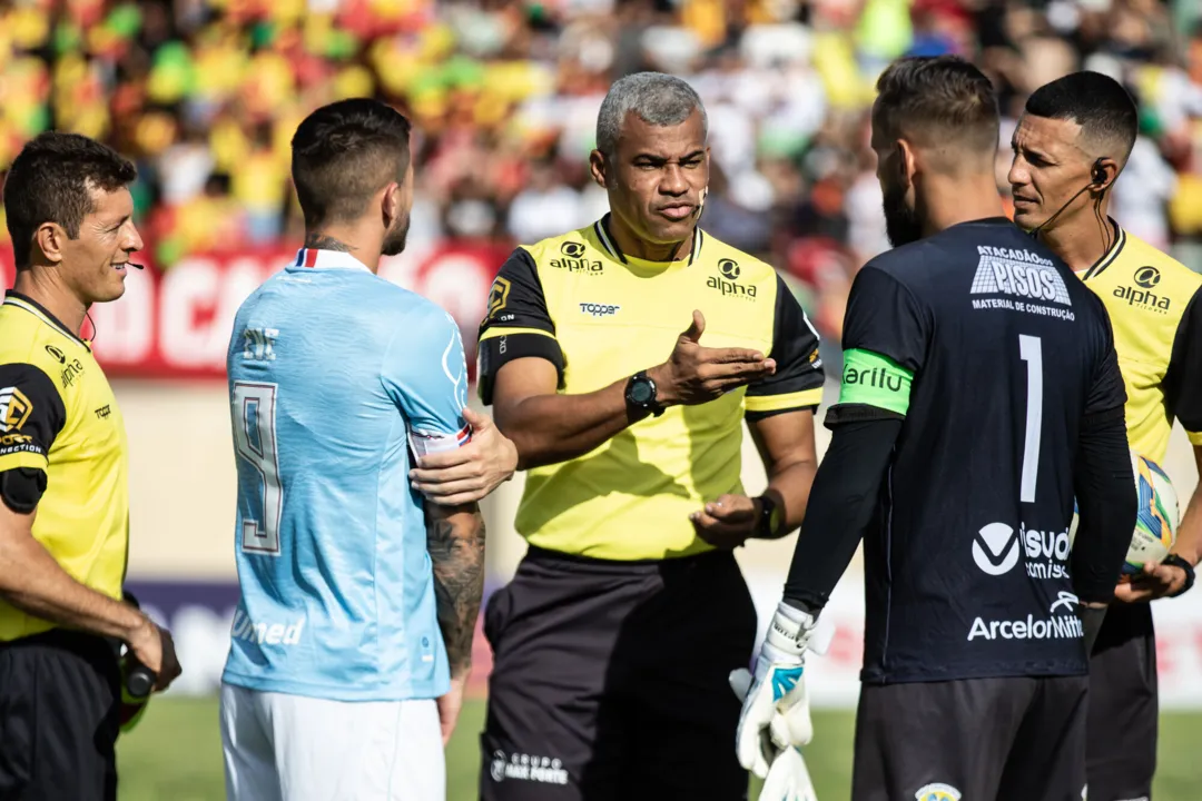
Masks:
[[[125,424],[88,345],[40,305],[0,304],[0,472],[46,472],[34,538],[73,579],[121,597],[129,549]],[[54,628],[0,600],[0,640]]]

